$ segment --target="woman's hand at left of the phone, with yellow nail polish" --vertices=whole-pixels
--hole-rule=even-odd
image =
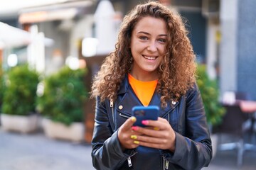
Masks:
[[[120,126],[118,130],[117,136],[122,146],[122,149],[134,149],[139,146],[138,144],[136,144],[136,139],[134,139],[134,137],[136,138],[137,135],[140,135],[140,133],[132,130],[132,125],[135,122],[136,122],[136,118],[132,116],[128,118],[124,122],[124,124]]]

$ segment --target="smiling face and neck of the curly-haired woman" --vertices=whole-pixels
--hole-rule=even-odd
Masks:
[[[135,79],[158,79],[157,69],[166,52],[167,28],[161,18],[146,16],[132,30],[131,51],[134,59],[131,74]]]

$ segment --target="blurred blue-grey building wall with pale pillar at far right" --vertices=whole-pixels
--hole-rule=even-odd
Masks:
[[[256,1],[222,0],[220,6],[220,87],[256,100]]]

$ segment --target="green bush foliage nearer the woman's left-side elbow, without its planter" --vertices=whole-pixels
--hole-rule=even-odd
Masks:
[[[70,125],[83,121],[84,102],[87,98],[84,77],[86,69],[63,67],[44,79],[43,96],[38,96],[37,109],[55,122]]]

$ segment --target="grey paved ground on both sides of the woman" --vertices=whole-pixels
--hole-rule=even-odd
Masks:
[[[22,135],[0,128],[1,170],[92,170],[91,146],[46,138],[42,132]],[[217,152],[203,170],[256,169],[256,151],[245,152],[236,166],[236,151]],[[143,170],[143,169],[142,169]]]

